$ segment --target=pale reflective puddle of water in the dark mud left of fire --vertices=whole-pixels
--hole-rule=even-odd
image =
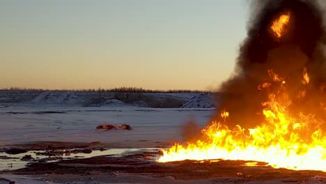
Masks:
[[[63,155],[38,155],[38,153],[45,153],[46,151],[28,151],[17,155],[10,155],[8,153],[0,153],[0,171],[15,170],[26,167],[27,164],[46,160],[46,162],[57,162],[58,160],[69,160],[76,158],[92,158],[104,155],[123,156],[135,153],[142,153],[144,151],[156,151],[157,148],[113,148],[105,151],[94,150],[92,153],[63,153]],[[63,150],[64,151],[64,150]],[[32,160],[22,160],[25,155],[31,155]]]

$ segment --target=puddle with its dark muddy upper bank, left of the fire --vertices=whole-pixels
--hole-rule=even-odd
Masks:
[[[11,171],[37,163],[80,160],[99,156],[123,157],[145,151],[160,151],[158,148],[104,148],[98,143],[41,143],[16,145],[0,149],[0,171]]]

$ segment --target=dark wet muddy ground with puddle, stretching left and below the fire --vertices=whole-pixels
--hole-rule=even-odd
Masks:
[[[42,146],[29,148],[36,147]],[[54,183],[326,183],[326,173],[322,171],[273,169],[263,162],[185,160],[159,163],[156,161],[161,154],[159,148],[62,147],[55,151],[47,149],[17,155],[1,153],[2,157],[8,157],[2,158],[1,165],[15,160],[20,160],[17,161],[20,164],[0,171],[0,176],[29,176]],[[91,153],[82,153],[88,150]],[[31,155],[33,160],[21,160],[24,155]],[[27,167],[20,167],[26,163]]]

